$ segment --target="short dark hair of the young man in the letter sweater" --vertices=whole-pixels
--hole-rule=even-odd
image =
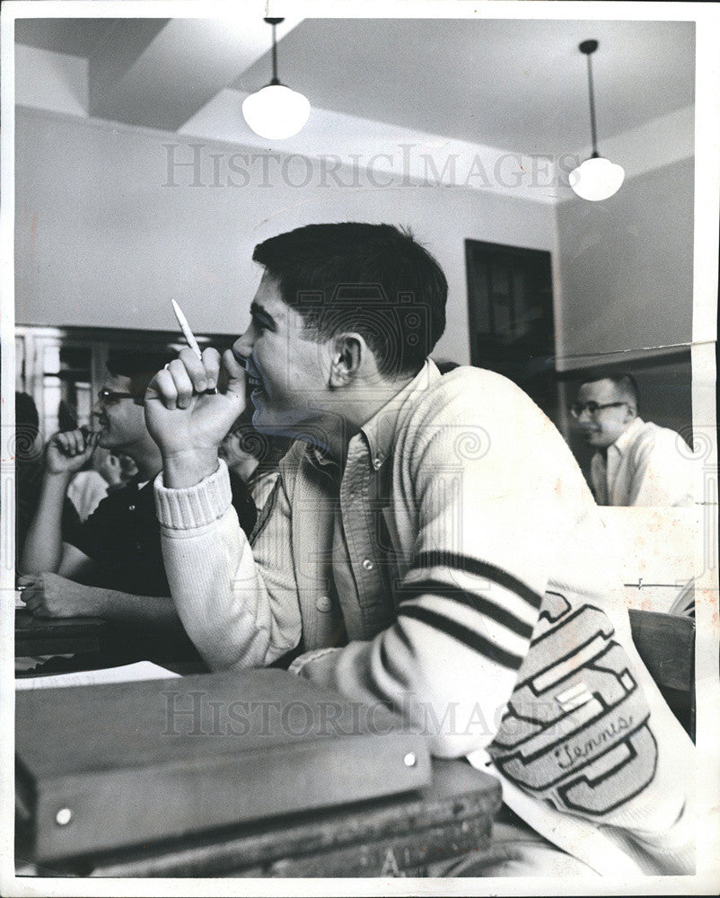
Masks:
[[[361,334],[381,374],[417,374],[445,329],[443,269],[409,231],[345,222],[270,237],[253,260],[312,338]]]

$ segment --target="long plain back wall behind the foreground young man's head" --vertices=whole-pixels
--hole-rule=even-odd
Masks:
[[[412,227],[443,266],[448,323],[435,357],[462,363],[464,240],[556,251],[555,210],[540,202],[366,178],[342,188],[300,157],[263,160],[257,149],[22,107],[15,128],[18,324],[175,330],[174,297],[194,330],[238,333],[259,279],[257,242],[311,222],[386,221]],[[198,186],[191,167],[169,178],[170,152],[177,162],[198,153]],[[231,163],[242,153],[255,161]]]

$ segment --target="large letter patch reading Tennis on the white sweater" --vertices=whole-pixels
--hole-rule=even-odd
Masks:
[[[507,779],[561,810],[606,814],[654,777],[650,710],[613,637],[599,608],[546,594],[488,748]]]

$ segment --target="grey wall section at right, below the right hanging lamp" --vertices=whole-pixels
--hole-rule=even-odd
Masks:
[[[558,205],[560,367],[692,339],[694,160]]]

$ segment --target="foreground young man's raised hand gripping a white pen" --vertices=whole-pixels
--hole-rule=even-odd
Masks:
[[[155,374],[145,393],[145,422],[162,453],[166,487],[192,486],[217,469],[217,448],[245,409],[245,372],[230,349],[222,358],[227,390],[213,391],[221,358],[207,348],[202,359],[183,349]]]

